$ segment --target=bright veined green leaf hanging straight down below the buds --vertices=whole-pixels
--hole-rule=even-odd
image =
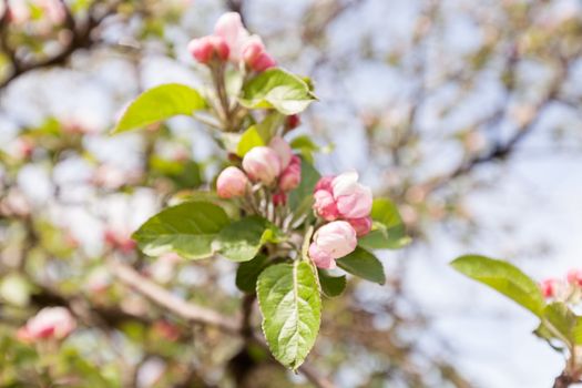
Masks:
[[[315,344],[321,319],[321,299],[312,265],[295,261],[268,267],[258,276],[257,296],[273,356],[297,369]]]

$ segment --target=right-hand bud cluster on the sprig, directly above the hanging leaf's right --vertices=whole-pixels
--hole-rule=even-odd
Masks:
[[[357,237],[371,229],[371,190],[358,183],[356,172],[324,176],[315,186],[314,210],[329,222],[319,227],[309,246],[309,257],[319,268],[336,267],[336,259],[356,248]]]

